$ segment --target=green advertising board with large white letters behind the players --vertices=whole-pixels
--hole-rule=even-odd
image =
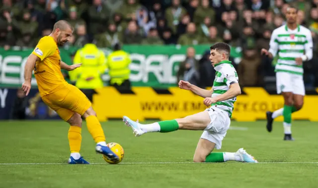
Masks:
[[[202,54],[209,50],[210,46],[194,46],[196,58],[199,60]],[[108,48],[101,48],[105,55],[111,52]],[[148,86],[154,88],[166,88],[176,85],[176,72],[178,65],[186,57],[187,46],[123,46],[123,50],[130,53],[130,80],[133,86]],[[16,88],[23,83],[24,65],[33,49],[10,49],[0,48],[0,87]],[[72,64],[71,53],[75,48],[61,48],[61,59],[67,64]],[[240,48],[232,48],[231,56],[239,62]],[[107,70],[102,79],[109,79]],[[32,79],[32,86],[36,86]]]

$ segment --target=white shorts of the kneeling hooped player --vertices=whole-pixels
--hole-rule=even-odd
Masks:
[[[205,128],[201,139],[211,141],[215,143],[216,149],[221,149],[223,138],[230,128],[231,119],[228,112],[217,107],[210,107],[206,109],[206,111],[209,112],[211,122],[207,128]]]

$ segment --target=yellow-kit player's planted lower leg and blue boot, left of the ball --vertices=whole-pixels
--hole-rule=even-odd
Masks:
[[[69,164],[89,164],[83,157],[80,156],[81,145],[81,117],[78,113],[74,113],[73,116],[67,121],[70,124],[68,133],[68,139],[70,144],[71,156],[68,160]]]

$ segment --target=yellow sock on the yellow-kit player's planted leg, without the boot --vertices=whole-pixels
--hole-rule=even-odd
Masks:
[[[71,153],[79,153],[81,144],[81,128],[78,126],[70,126],[68,138]]]

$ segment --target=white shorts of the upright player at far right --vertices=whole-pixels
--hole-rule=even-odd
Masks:
[[[305,95],[303,75],[287,72],[276,72],[277,94],[291,92],[293,94]]]

